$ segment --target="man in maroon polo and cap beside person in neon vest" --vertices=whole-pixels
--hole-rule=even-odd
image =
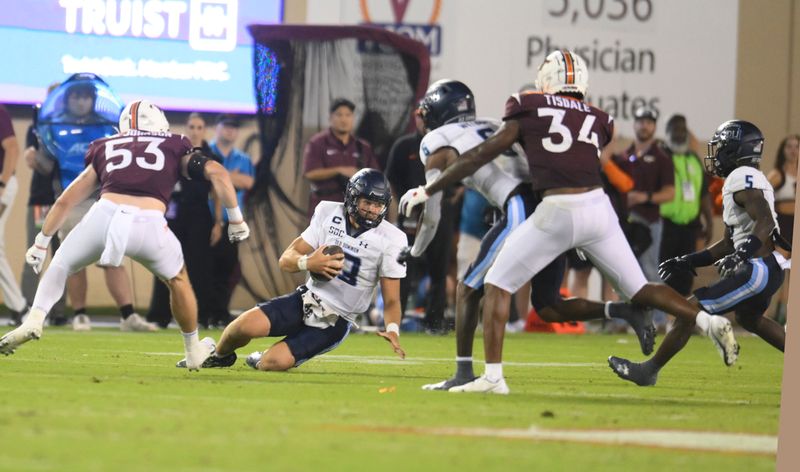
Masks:
[[[661,282],[658,263],[664,224],[659,205],[675,197],[675,168],[655,138],[658,111],[642,106],[634,110],[633,118],[634,142],[613,160],[633,179],[633,190],[623,199],[628,222],[644,225],[650,233],[650,244],[637,255],[639,265],[649,282]],[[666,323],[666,316],[657,315],[656,323],[662,322]]]

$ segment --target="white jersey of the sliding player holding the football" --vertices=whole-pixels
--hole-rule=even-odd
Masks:
[[[346,221],[343,203],[322,201],[300,237],[315,249],[335,245],[344,250],[344,269],[338,277],[328,282],[309,277],[306,286],[339,316],[353,321],[355,315],[369,309],[381,277],[406,276],[406,267],[397,262],[397,256],[408,246],[408,238],[386,220],[352,237],[347,234]]]

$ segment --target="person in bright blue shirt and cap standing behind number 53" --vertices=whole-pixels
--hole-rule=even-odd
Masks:
[[[244,209],[244,198],[248,190],[255,183],[255,167],[244,151],[234,147],[239,137],[241,123],[236,115],[223,113],[217,116],[215,137],[209,143],[211,152],[217,156],[231,176],[231,182],[236,189],[236,198],[239,208]],[[227,234],[228,219],[224,212],[213,211],[213,203],[209,203],[214,216],[214,228],[221,228],[221,234]],[[239,250],[236,245],[226,238],[220,238],[211,246],[211,296],[212,305],[208,310],[208,324],[210,326],[224,327],[231,321],[228,305],[236,284],[239,283]]]

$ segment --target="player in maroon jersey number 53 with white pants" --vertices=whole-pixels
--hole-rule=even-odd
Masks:
[[[84,171],[56,200],[25,261],[42,270],[50,238],[69,210],[99,185],[100,200],[62,242],[36,290],[25,322],[0,338],[0,353],[11,354],[21,344],[39,339],[47,313],[61,297],[67,275],[100,263],[119,266],[129,256],[160,277],[170,290],[173,315],[183,332],[187,366],[197,370],[208,356],[197,336],[197,301],[186,274],[177,238],[164,212],[180,173],[211,181],[225,206],[231,241],[242,241],[250,230],[236,201],[230,176],[222,165],[193,152],[186,136],[169,132],[164,113],[147,101],[122,111],[120,133],[92,142]]]

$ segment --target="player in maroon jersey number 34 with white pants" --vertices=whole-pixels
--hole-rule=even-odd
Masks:
[[[508,237],[486,274],[486,371],[450,391],[508,393],[502,349],[510,296],[572,248],[581,249],[632,302],[696,322],[721,352],[725,364],[733,365],[739,346],[730,322],[698,311],[668,286],[647,283],[642,274],[602,189],[599,157],[613,137],[614,122],[583,101],[588,86],[583,59],[570,51],[554,51],[539,67],[536,82],[541,92],[514,94],[508,99],[504,123],[495,134],[464,154],[435,182],[409,190],[400,202],[401,210],[410,212],[516,142],[525,149],[534,190],[543,197],[533,215]]]

